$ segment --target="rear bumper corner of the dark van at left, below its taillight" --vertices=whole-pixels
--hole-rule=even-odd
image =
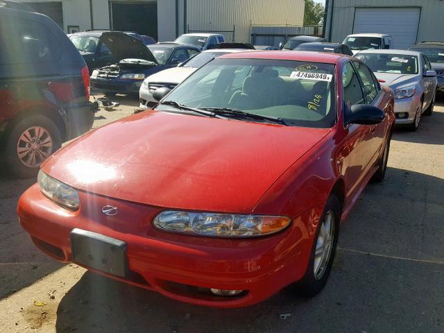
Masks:
[[[87,133],[94,123],[94,103],[89,101],[65,105],[66,140]]]

